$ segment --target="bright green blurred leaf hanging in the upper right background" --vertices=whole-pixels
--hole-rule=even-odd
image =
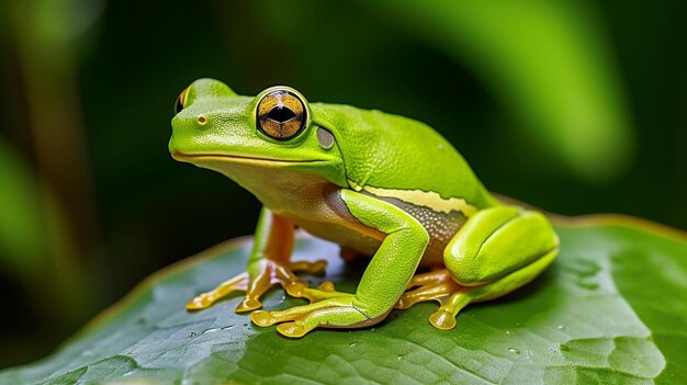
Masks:
[[[465,63],[521,126],[533,159],[585,182],[608,183],[628,167],[630,126],[602,22],[584,1],[376,1],[428,45]],[[508,128],[508,127],[504,127]],[[552,172],[552,170],[549,170]]]

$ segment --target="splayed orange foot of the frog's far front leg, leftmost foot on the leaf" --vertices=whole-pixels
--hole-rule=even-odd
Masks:
[[[250,312],[262,306],[260,297],[274,284],[280,284],[286,292],[292,287],[301,291],[307,287],[307,282],[300,280],[294,272],[303,271],[311,274],[320,274],[325,271],[327,261],[315,262],[299,261],[292,263],[280,263],[269,259],[257,261],[249,265],[251,273],[245,272],[223,282],[214,290],[203,293],[187,304],[189,310],[200,310],[210,307],[215,302],[235,291],[245,291],[246,297],[236,307],[237,313]],[[326,287],[328,288],[328,286]]]

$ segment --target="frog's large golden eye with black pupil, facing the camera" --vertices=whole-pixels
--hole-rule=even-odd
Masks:
[[[257,115],[258,129],[277,140],[295,137],[307,122],[305,103],[289,90],[275,90],[262,97]]]

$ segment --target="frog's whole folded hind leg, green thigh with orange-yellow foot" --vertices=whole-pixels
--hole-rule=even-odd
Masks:
[[[447,270],[414,279],[420,287],[406,292],[396,307],[438,301],[441,306],[429,321],[438,329],[452,329],[455,316],[468,304],[494,299],[527,284],[558,251],[559,238],[541,213],[516,206],[480,211],[447,246]]]

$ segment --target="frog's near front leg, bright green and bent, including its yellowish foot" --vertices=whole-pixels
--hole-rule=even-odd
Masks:
[[[384,201],[351,190],[341,190],[340,194],[353,217],[386,235],[356,294],[338,293],[283,312],[254,312],[250,318],[256,325],[286,322],[277,329],[294,338],[316,327],[364,327],[384,319],[405,291],[429,242],[427,230],[414,217]]]

